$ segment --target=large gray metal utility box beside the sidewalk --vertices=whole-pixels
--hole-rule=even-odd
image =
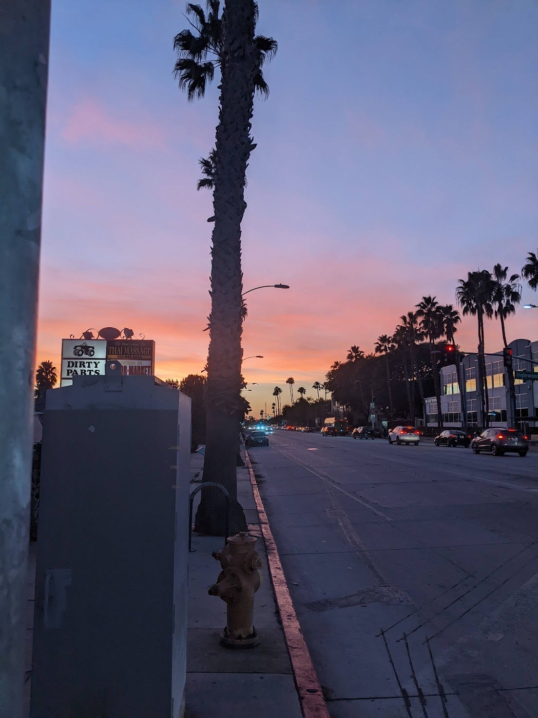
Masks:
[[[47,392],[31,718],[179,718],[191,400],[154,377]]]

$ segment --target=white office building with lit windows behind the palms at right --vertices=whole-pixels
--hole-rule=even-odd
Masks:
[[[510,342],[512,368],[536,374],[538,379],[538,341],[516,339]],[[458,373],[460,381],[458,383]],[[490,426],[517,426],[527,431],[538,426],[538,381],[527,378],[515,379],[516,406],[512,416],[509,382],[503,363],[502,349],[495,354],[486,354],[486,376],[489,399]],[[485,426],[486,417],[481,416],[481,401],[478,388],[478,357],[467,354],[459,365],[450,365],[440,370],[441,411],[443,426]],[[463,388],[463,401],[460,392]],[[425,398],[427,426],[437,426],[437,401],[435,396]]]

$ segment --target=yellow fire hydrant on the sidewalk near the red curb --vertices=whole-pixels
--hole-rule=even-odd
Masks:
[[[220,643],[228,648],[253,648],[260,643],[253,625],[254,594],[262,582],[262,562],[255,543],[254,536],[240,531],[228,538],[224,549],[212,553],[222,571],[208,593],[226,602],[226,627]]]

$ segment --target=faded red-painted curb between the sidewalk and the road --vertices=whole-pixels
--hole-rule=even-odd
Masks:
[[[308,652],[303,632],[301,631],[301,625],[293,608],[288,584],[286,583],[282,564],[280,563],[278,549],[276,548],[275,539],[273,538],[273,532],[269,526],[267,514],[265,513],[246,447],[245,464],[247,465],[250,475],[250,484],[258,510],[263,540],[265,541],[269,573],[275,592],[276,605],[280,615],[280,622],[282,623],[285,643],[288,646],[293,680],[295,681],[299,703],[301,704],[301,713],[303,714],[303,718],[330,718],[316,669],[313,667],[312,659]]]

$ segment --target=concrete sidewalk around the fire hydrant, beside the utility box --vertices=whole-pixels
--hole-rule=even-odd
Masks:
[[[191,454],[191,490],[202,480],[204,458]],[[258,536],[256,549],[263,561],[262,585],[255,597],[254,624],[260,645],[245,651],[219,643],[226,623],[226,604],[209,596],[207,588],[220,572],[212,551],[222,538],[192,537],[189,555],[189,612],[187,646],[186,718],[300,718],[298,694],[285,646],[267,556],[258,523],[250,475],[237,469],[237,498],[245,510],[250,533]],[[195,507],[197,505],[195,500]]]

